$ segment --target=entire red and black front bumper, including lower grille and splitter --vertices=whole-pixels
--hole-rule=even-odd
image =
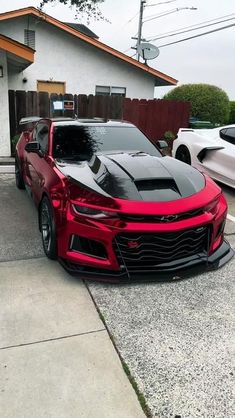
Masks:
[[[123,282],[193,276],[218,269],[233,257],[223,239],[226,212],[223,197],[216,215],[204,211],[167,223],[91,220],[69,207],[58,230],[58,258],[69,273],[84,279]],[[90,244],[96,248],[89,250]]]

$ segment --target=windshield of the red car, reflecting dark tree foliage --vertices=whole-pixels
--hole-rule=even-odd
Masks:
[[[53,157],[87,160],[94,153],[142,151],[161,157],[161,153],[136,127],[56,126]]]

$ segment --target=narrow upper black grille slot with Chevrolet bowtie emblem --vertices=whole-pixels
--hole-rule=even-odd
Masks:
[[[188,212],[172,214],[172,215],[129,215],[129,214],[120,214],[119,217],[126,222],[157,222],[157,223],[170,223],[183,221],[185,219],[194,218],[203,214],[203,210],[194,209]]]

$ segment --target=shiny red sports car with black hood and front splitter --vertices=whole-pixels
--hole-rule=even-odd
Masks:
[[[22,127],[16,185],[38,207],[45,254],[69,272],[176,279],[233,256],[221,189],[132,124],[28,118]]]

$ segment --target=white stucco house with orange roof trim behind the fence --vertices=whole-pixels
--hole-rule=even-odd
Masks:
[[[0,79],[0,100],[5,106],[8,89],[151,99],[155,86],[177,84],[174,78],[100,42],[84,25],[61,22],[34,7],[0,14],[0,34],[0,68],[5,74]],[[16,56],[23,60],[22,65],[11,63],[13,45],[19,53],[15,60]],[[26,50],[28,60],[22,58]],[[6,119],[6,114],[0,116],[1,126]],[[9,150],[9,128],[4,131],[0,155]]]

